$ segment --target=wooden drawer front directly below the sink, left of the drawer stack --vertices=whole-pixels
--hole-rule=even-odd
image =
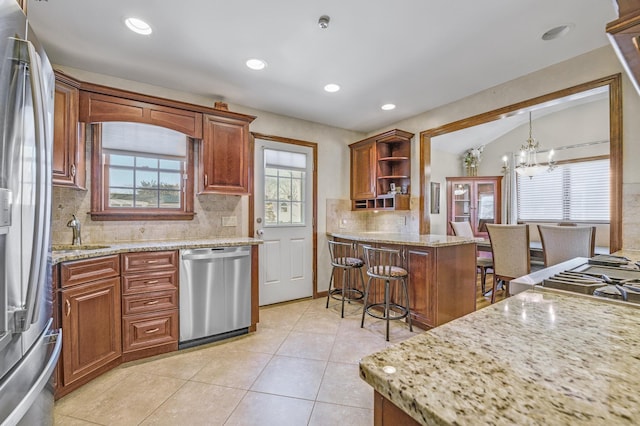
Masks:
[[[118,275],[120,275],[120,256],[117,254],[64,262],[60,265],[62,288]]]

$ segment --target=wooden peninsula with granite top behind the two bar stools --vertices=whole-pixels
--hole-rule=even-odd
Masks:
[[[357,245],[399,249],[409,273],[414,325],[431,328],[476,309],[476,238],[381,232],[331,232],[330,237]],[[361,248],[360,254],[362,255]],[[339,284],[338,284],[339,285]],[[371,299],[380,302],[382,292]]]

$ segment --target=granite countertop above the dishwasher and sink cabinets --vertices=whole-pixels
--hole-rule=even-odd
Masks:
[[[233,247],[262,244],[262,240],[249,237],[224,237],[210,238],[203,240],[165,240],[165,241],[140,241],[127,243],[104,243],[104,244],[88,244],[87,246],[105,248],[95,248],[87,250],[53,250],[51,253],[52,264],[65,262],[69,260],[88,259],[92,257],[108,256],[110,254],[137,252],[137,251],[160,251],[160,250],[179,250],[185,248],[202,248],[202,247]],[[71,248],[72,246],[64,246]],[[56,248],[56,245],[53,245]]]

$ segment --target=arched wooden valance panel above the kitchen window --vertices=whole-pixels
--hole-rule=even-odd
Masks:
[[[150,102],[81,91],[80,121],[127,121],[166,127],[192,138],[202,137],[202,114]]]

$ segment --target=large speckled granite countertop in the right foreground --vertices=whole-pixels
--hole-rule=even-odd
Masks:
[[[639,320],[536,288],[369,355],[360,376],[422,424],[637,424]]]

